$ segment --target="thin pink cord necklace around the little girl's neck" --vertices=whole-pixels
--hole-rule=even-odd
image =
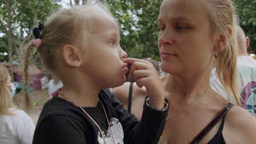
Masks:
[[[103,133],[102,133],[102,131],[101,131],[101,128],[100,128],[100,126],[98,126],[98,124],[94,121],[94,119],[82,108],[82,106],[80,106],[78,103],[75,103],[75,101],[72,100],[71,98],[69,98],[65,93],[60,92],[60,89],[58,89],[58,91],[59,91],[60,94],[62,94],[62,95],[63,95],[64,97],[66,97],[68,100],[72,101],[72,103],[74,103],[75,105],[78,105],[78,106],[80,107],[80,109],[85,113],[85,115],[88,116],[88,117],[91,119],[91,121],[95,123],[95,125],[97,126],[98,130],[99,130],[100,133],[101,133],[101,137],[102,137],[104,143],[106,143],[105,138],[104,138],[104,135],[103,135]],[[101,105],[102,105],[102,107],[103,107],[105,116],[106,116],[107,121],[108,121],[108,116],[107,116],[107,112],[106,112],[106,110],[105,110],[105,107],[104,107],[103,103],[101,102],[101,100],[100,100],[100,99],[98,99],[98,100],[100,101],[100,103],[101,103]],[[114,135],[113,135],[112,130],[111,130],[111,128],[110,128],[109,121],[108,121],[108,127],[109,127],[110,133],[111,133],[111,135],[112,135],[113,142],[114,142],[114,144],[115,144]]]

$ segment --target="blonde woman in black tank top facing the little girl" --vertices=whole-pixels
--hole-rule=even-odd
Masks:
[[[239,106],[237,94],[236,25],[230,0],[162,2],[158,49],[170,102],[162,144],[255,143],[255,118]],[[238,106],[210,87],[213,68]]]

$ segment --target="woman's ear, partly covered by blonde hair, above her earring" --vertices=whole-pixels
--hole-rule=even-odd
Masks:
[[[232,29],[230,26],[225,26],[220,32],[219,39],[216,43],[216,47],[218,47],[218,51],[223,51],[228,45],[228,40],[232,35]]]

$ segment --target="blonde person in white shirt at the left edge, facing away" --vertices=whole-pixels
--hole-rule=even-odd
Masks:
[[[4,65],[0,65],[0,143],[32,143],[34,123],[26,112],[14,106],[10,86],[9,71]]]

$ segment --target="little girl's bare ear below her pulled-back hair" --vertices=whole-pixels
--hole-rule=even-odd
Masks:
[[[64,45],[61,49],[62,57],[67,65],[78,68],[82,64],[79,56],[79,48],[73,45]]]

